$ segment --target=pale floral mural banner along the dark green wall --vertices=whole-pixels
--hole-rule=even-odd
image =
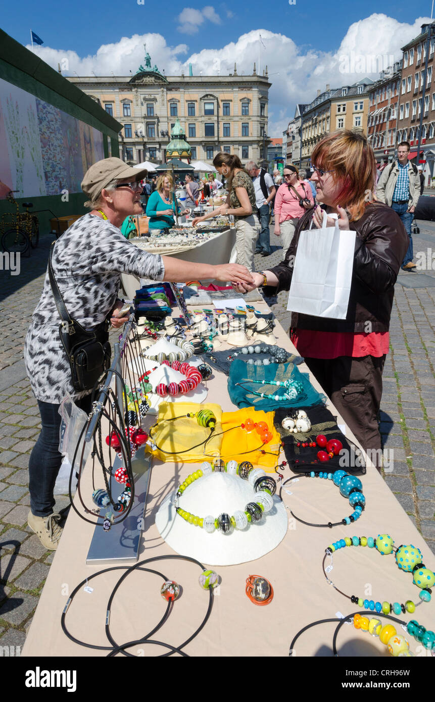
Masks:
[[[8,188],[16,197],[81,192],[103,158],[98,129],[0,79],[0,197]]]

